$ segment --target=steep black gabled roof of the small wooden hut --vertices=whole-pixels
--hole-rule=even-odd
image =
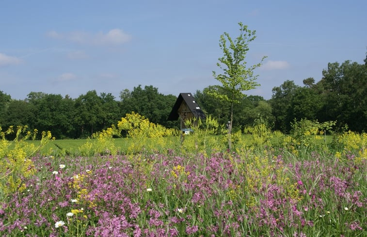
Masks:
[[[206,119],[204,112],[200,109],[199,105],[196,103],[195,98],[191,95],[191,93],[180,93],[180,95],[178,95],[176,99],[176,103],[173,106],[170,115],[168,116],[168,121],[175,121],[179,118],[177,111],[180,108],[182,101],[185,101],[195,118]]]

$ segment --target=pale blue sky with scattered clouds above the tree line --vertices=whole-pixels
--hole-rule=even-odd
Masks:
[[[77,98],[153,85],[165,95],[219,84],[219,38],[256,30],[248,65],[271,98],[285,80],[322,78],[328,63],[363,63],[366,0],[0,0],[0,91]]]

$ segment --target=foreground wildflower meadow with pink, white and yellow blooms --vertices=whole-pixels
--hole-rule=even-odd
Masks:
[[[336,136],[330,149],[239,137],[229,151],[210,124],[164,152],[33,155],[25,189],[0,203],[1,236],[367,235],[365,133]]]

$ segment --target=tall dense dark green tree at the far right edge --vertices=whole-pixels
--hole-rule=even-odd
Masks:
[[[323,120],[336,120],[353,131],[367,128],[367,65],[345,61],[329,63],[318,84],[323,87]]]

